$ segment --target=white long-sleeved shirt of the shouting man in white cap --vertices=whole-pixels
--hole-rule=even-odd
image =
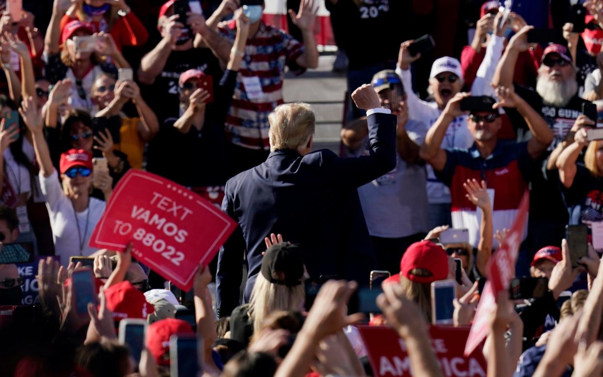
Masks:
[[[440,117],[442,110],[438,108],[437,103],[423,101],[412,91],[410,69],[403,70],[400,66],[397,66],[396,73],[400,76],[406,92],[408,118],[423,122],[431,127]],[[473,145],[473,136],[469,132],[469,128],[467,128],[467,116],[458,116],[450,122],[440,148],[466,149],[471,147],[471,145]],[[430,204],[450,203],[450,190],[435,177],[434,169],[431,165],[427,165],[427,195]]]

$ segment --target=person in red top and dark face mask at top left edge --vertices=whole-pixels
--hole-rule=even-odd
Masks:
[[[71,6],[61,19],[61,30],[74,20],[90,24],[94,33],[104,31],[111,34],[119,51],[122,46],[143,46],[149,36],[125,0],[71,1]]]

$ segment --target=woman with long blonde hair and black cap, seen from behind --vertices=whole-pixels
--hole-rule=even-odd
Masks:
[[[275,311],[303,311],[306,299],[303,253],[296,245],[280,243],[266,250],[250,302],[230,315],[231,337],[249,343]]]

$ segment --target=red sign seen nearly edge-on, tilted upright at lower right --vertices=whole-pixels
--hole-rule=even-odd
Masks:
[[[479,298],[478,309],[473,318],[469,339],[465,346],[465,355],[472,353],[477,346],[488,335],[488,317],[496,308],[496,294],[502,290],[508,290],[513,276],[515,276],[515,264],[517,262],[517,252],[522,243],[523,229],[528,221],[529,193],[523,194],[522,202],[519,204],[517,217],[513,222],[511,230],[496,250],[494,258],[490,258],[486,270],[488,271],[488,281],[484,286],[484,291]]]

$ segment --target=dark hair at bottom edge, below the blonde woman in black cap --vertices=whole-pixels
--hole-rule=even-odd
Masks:
[[[276,361],[268,353],[241,351],[224,366],[223,377],[274,376]]]

